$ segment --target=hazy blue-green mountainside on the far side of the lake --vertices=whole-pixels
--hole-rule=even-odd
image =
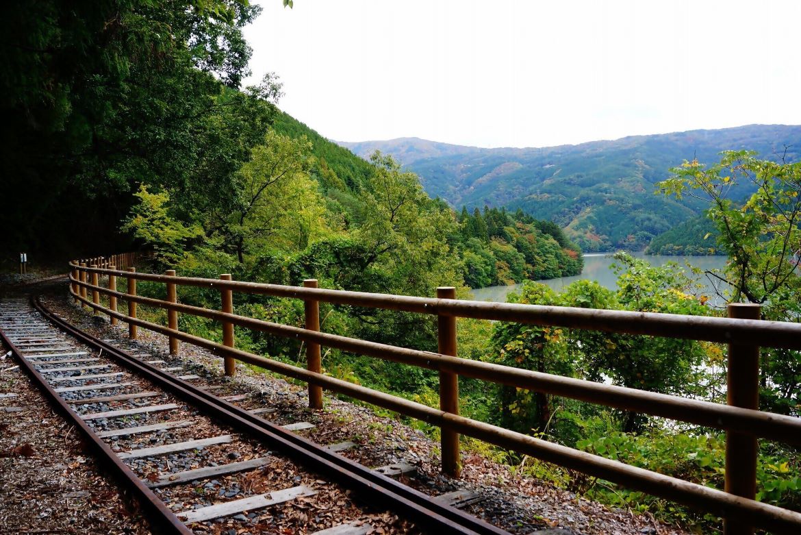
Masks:
[[[758,151],[763,158],[801,156],[801,127],[750,125],[545,148],[461,147],[424,139],[340,143],[367,157],[376,148],[396,156],[421,176],[429,195],[454,207],[521,207],[553,219],[584,251],[642,249],[654,236],[698,215],[702,206],[654,195],[670,167],[697,157],[719,160],[728,149]],[[747,187],[735,192],[747,195]]]

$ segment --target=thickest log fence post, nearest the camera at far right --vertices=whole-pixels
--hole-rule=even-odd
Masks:
[[[759,320],[759,304],[730,303],[730,318]],[[729,344],[727,404],[759,408],[759,346]],[[726,432],[726,492],[753,500],[756,496],[756,436]],[[752,535],[754,527],[740,519],[723,519],[724,535]]]

